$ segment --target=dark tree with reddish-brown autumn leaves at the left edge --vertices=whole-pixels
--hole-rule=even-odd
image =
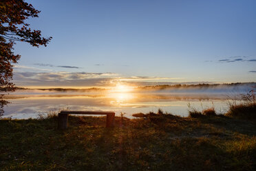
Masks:
[[[38,17],[39,12],[23,0],[0,1],[0,91],[14,90],[13,64],[21,57],[12,52],[15,41],[25,41],[39,47],[46,46],[52,39],[52,37],[43,38],[40,30],[31,30],[30,25],[25,23],[28,17]],[[6,103],[0,99],[0,108]]]

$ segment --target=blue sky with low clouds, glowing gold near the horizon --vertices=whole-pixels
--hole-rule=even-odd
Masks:
[[[93,87],[116,83],[256,81],[256,1],[27,1],[48,46],[17,43],[14,83]]]

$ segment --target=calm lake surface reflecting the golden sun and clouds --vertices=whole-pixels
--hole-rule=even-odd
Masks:
[[[94,110],[121,112],[125,117],[138,112],[157,112],[160,108],[182,117],[188,116],[188,105],[198,110],[214,107],[217,113],[228,109],[228,101],[236,101],[232,92],[55,92],[19,90],[6,95],[10,101],[3,117],[12,119],[38,118],[39,114],[59,110]]]

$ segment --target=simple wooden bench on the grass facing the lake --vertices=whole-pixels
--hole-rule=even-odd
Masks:
[[[106,114],[106,127],[114,127],[115,122],[115,112],[96,112],[96,111],[68,111],[62,110],[58,113],[58,129],[67,129],[67,119],[69,114]]]

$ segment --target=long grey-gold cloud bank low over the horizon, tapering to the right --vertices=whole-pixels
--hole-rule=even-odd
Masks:
[[[116,86],[116,83],[169,82],[182,78],[125,77],[113,72],[14,72],[17,86]]]

